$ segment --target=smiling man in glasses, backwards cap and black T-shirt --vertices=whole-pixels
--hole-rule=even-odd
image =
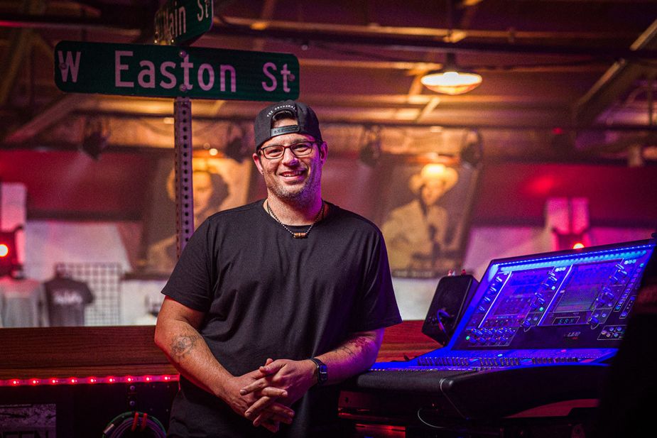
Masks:
[[[156,343],[181,374],[170,437],[340,436],[334,384],[401,322],[381,232],[322,199],[315,112],[280,102],[254,129],[267,198],[207,219],[163,290]]]

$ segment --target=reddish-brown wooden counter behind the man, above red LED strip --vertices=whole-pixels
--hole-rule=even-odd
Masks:
[[[403,361],[440,346],[422,321],[386,329],[377,361]],[[153,326],[0,329],[0,380],[176,374]]]

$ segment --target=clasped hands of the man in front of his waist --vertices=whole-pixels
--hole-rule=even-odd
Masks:
[[[262,377],[241,388],[239,394],[244,396],[251,395],[257,400],[249,406],[244,412],[244,416],[253,420],[254,426],[263,425],[272,432],[270,427],[272,422],[276,425],[280,421],[290,424],[286,421],[288,418],[276,415],[272,408],[276,405],[291,406],[308,392],[315,383],[315,363],[312,361],[291,361],[289,359],[278,359],[272,361],[267,359],[264,366],[258,369]],[[281,403],[278,403],[280,401]],[[289,408],[288,408],[289,409]]]

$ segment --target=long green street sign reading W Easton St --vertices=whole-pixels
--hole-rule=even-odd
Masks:
[[[55,84],[73,93],[275,102],[299,97],[299,60],[289,53],[62,41],[55,46]]]

